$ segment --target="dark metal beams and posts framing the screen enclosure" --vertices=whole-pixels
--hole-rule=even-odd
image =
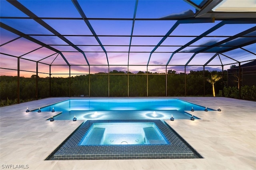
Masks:
[[[29,54],[33,51],[36,51],[42,47],[46,47],[52,51],[54,51],[55,53],[52,54],[52,55],[60,55],[64,61],[66,62],[66,66],[69,67],[69,78],[72,76],[72,73],[70,71],[70,67],[72,66],[86,66],[88,67],[88,73],[87,74],[84,74],[84,75],[89,75],[89,88],[88,88],[88,94],[89,94],[89,97],[90,97],[90,66],[106,66],[108,67],[108,97],[110,97],[110,67],[111,66],[125,66],[127,67],[127,74],[118,74],[118,75],[127,75],[128,77],[128,81],[127,81],[127,87],[128,87],[128,94],[127,94],[127,97],[129,97],[129,66],[146,66],[146,77],[147,77],[147,97],[148,97],[148,75],[151,75],[150,73],[148,73],[148,67],[149,66],[163,66],[165,67],[165,77],[166,77],[166,96],[168,95],[167,94],[167,87],[168,87],[168,82],[167,82],[167,67],[169,66],[182,66],[184,67],[184,79],[185,79],[185,84],[184,84],[184,89],[185,89],[185,96],[186,96],[186,67],[188,66],[202,66],[203,67],[203,71],[205,71],[205,67],[206,66],[220,66],[222,67],[222,77],[223,77],[223,67],[225,65],[232,65],[232,64],[237,64],[239,65],[239,68],[240,68],[240,65],[241,63],[243,62],[248,62],[248,61],[252,61],[252,60],[246,60],[246,61],[238,61],[236,59],[233,59],[232,57],[229,57],[225,54],[223,54],[224,52],[227,52],[227,51],[231,51],[233,49],[242,49],[244,51],[247,51],[248,53],[252,54],[252,55],[255,55],[255,53],[253,53],[252,51],[249,51],[247,49],[244,49],[243,47],[246,46],[246,45],[250,45],[250,44],[254,44],[256,43],[256,39],[255,39],[255,31],[256,31],[256,26],[248,29],[248,30],[245,30],[244,32],[240,32],[234,36],[208,36],[209,33],[213,32],[214,30],[226,25],[226,24],[256,24],[256,20],[254,18],[255,16],[255,12],[251,12],[248,14],[248,12],[243,12],[243,13],[236,13],[234,12],[233,14],[227,14],[228,17],[225,16],[225,14],[223,13],[221,16],[218,15],[218,14],[214,14],[212,13],[211,9],[216,6],[215,3],[220,3],[221,0],[218,0],[218,1],[202,1],[201,5],[200,4],[194,4],[192,1],[190,0],[187,0],[188,3],[192,4],[195,6],[195,8],[198,10],[198,12],[196,12],[196,14],[194,14],[194,16],[190,16],[188,18],[180,18],[180,17],[166,17],[166,18],[136,18],[136,10],[137,10],[137,6],[138,6],[138,0],[136,0],[135,2],[135,6],[134,6],[134,15],[133,15],[133,18],[87,18],[86,15],[84,14],[84,11],[83,9],[81,8],[79,2],[77,0],[72,0],[72,3],[74,4],[74,6],[76,7],[76,9],[78,10],[79,14],[80,14],[80,18],[53,18],[53,17],[44,17],[44,18],[40,18],[38,16],[36,16],[36,14],[34,14],[33,12],[31,12],[28,8],[26,8],[25,6],[23,6],[20,2],[18,1],[15,1],[15,0],[7,0],[10,4],[12,4],[13,6],[15,6],[16,8],[18,8],[18,10],[22,11],[23,13],[25,13],[28,17],[0,17],[0,18],[3,18],[3,19],[32,19],[34,21],[36,21],[38,24],[40,24],[41,26],[43,26],[44,28],[46,28],[47,30],[49,30],[50,32],[53,33],[53,35],[45,35],[45,34],[37,34],[36,36],[57,36],[58,38],[60,38],[61,40],[63,40],[64,42],[66,42],[68,45],[67,46],[72,46],[76,51],[59,51],[58,49],[55,49],[54,47],[52,47],[53,45],[47,45],[43,42],[40,42],[39,40],[36,40],[35,38],[33,38],[32,36],[35,36],[34,34],[24,34],[23,32],[20,32],[19,30],[16,30],[15,28],[12,28],[4,23],[0,23],[0,26],[1,28],[4,28],[14,34],[17,34],[19,37],[18,38],[15,38],[13,40],[10,40],[9,42],[6,42],[6,43],[3,43],[1,44],[0,46],[2,45],[6,45],[8,43],[11,43],[15,40],[18,40],[19,38],[26,38],[27,40],[30,40],[34,43],[37,43],[39,45],[41,45],[41,47],[37,48],[37,49],[34,49],[26,54]],[[217,3],[217,4],[218,4]],[[209,10],[209,9],[210,10]],[[209,12],[210,11],[210,12]],[[207,15],[207,17],[200,17],[200,16],[203,16],[203,15]],[[211,15],[211,17],[209,17],[209,15]],[[216,16],[220,16],[219,18],[216,17]],[[230,15],[233,16],[233,18],[230,18]],[[238,17],[239,15],[239,17]],[[243,18],[244,17],[244,18]],[[73,44],[72,42],[70,42],[67,38],[65,38],[66,36],[84,36],[84,35],[62,35],[60,33],[58,33],[56,30],[54,30],[54,28],[52,28],[50,25],[48,25],[46,22],[44,22],[44,20],[83,20],[86,24],[86,26],[90,29],[90,31],[92,32],[92,35],[86,35],[85,37],[94,37],[96,39],[96,41],[98,42],[98,45],[93,45],[93,46],[98,46],[98,47],[101,47],[102,48],[102,51],[83,51],[82,49],[80,49],[78,46],[82,46],[82,45],[75,45]],[[113,37],[128,37],[130,38],[130,44],[129,45],[114,45],[114,46],[120,46],[120,47],[129,47],[129,50],[128,50],[128,63],[127,65],[111,65],[109,64],[108,62],[108,53],[114,53],[114,52],[125,52],[127,53],[127,51],[107,51],[105,49],[105,47],[107,46],[113,46],[113,45],[103,45],[102,42],[100,42],[100,38],[99,37],[111,37],[110,35],[97,35],[96,32],[94,31],[94,28],[92,27],[92,25],[90,24],[90,21],[92,20],[123,20],[123,21],[132,21],[132,28],[131,28],[131,34],[130,36],[127,36],[127,35],[120,35],[120,36],[113,36]],[[161,20],[174,20],[176,21],[176,23],[170,28],[170,30],[165,34],[165,36],[143,36],[143,35],[133,35],[133,30],[134,30],[134,22],[136,21],[152,21],[152,20],[158,20],[158,21],[161,21]],[[206,30],[204,33],[202,33],[200,36],[171,36],[170,34],[179,26],[179,24],[191,24],[191,23],[212,23],[212,22],[215,22],[215,21],[221,21],[220,23],[216,24],[215,26],[213,26],[212,28]],[[160,40],[160,42],[158,42],[157,45],[131,45],[131,41],[132,41],[132,38],[133,37],[162,37],[162,39]],[[193,40],[191,40],[190,42],[184,44],[184,45],[161,45],[164,40],[166,40],[166,38],[169,38],[169,37],[191,37],[193,38]],[[193,45],[191,45],[192,43],[200,40],[201,38],[210,38],[210,37],[220,37],[220,38],[226,38],[218,43],[214,43],[213,45],[196,45],[195,47],[200,47],[200,48],[195,48],[194,51],[189,51],[189,53],[194,53],[190,59],[186,62],[185,65],[173,65],[173,64],[170,64],[170,61],[172,60],[172,57],[174,56],[174,54],[176,53],[186,53],[184,51],[181,51],[182,49],[186,48],[186,47],[193,47]],[[236,38],[248,38],[246,41],[244,41],[244,43],[240,43],[239,45],[223,45],[224,43],[230,43],[232,40],[236,39]],[[254,38],[254,39],[250,39],[250,38]],[[85,45],[85,46],[90,46],[90,45]],[[129,64],[129,55],[130,53],[134,53],[135,51],[130,51],[130,48],[131,47],[149,47],[149,46],[152,46],[154,47],[154,49],[152,51],[143,51],[142,53],[150,53],[149,57],[148,57],[148,62],[147,62],[147,65],[131,65]],[[180,48],[175,50],[175,51],[156,51],[156,49],[158,47],[177,47],[179,46]],[[225,47],[224,49],[222,49],[222,47]],[[82,55],[84,56],[84,59],[86,60],[86,65],[72,65],[68,62],[68,60],[65,58],[65,56],[63,55],[63,52],[77,52],[77,53],[82,53]],[[107,63],[106,65],[92,65],[88,62],[88,59],[86,58],[86,55],[85,53],[90,53],[90,52],[97,52],[97,53],[105,53],[106,55],[106,59],[107,59]],[[139,53],[138,51],[136,51],[136,53]],[[168,59],[168,62],[164,65],[150,65],[150,58],[151,58],[151,55],[153,53],[170,53],[170,57]],[[203,65],[190,65],[190,61],[198,54],[198,53],[215,53],[206,63],[204,63]],[[10,69],[10,70],[16,70],[17,71],[17,77],[18,77],[18,81],[17,81],[17,86],[18,86],[18,94],[17,94],[17,98],[18,98],[18,103],[20,103],[20,95],[19,95],[19,88],[20,88],[20,71],[24,71],[24,70],[20,70],[20,57],[21,56],[14,56],[14,55],[10,55],[10,54],[6,54],[6,53],[0,53],[2,55],[6,55],[6,56],[10,56],[10,57],[16,57],[17,58],[17,70],[16,69]],[[26,54],[23,54],[22,56],[26,55]],[[52,56],[50,55],[50,56]],[[227,57],[229,59],[231,59],[232,63],[228,63],[228,64],[223,64],[222,63],[222,60],[220,58],[220,55],[224,56],[224,57]],[[47,57],[50,57],[50,56],[46,56],[45,58]],[[218,57],[220,59],[220,65],[209,65],[210,61],[212,61],[214,58]],[[24,58],[22,58],[24,59]],[[38,61],[34,61],[32,59],[25,59],[25,60],[29,60],[29,61],[32,61],[32,62],[35,62],[36,63],[36,71],[34,73],[36,73],[36,99],[38,99],[38,73],[42,73],[42,74],[49,74],[49,77],[50,77],[50,93],[51,93],[51,76],[54,75],[52,74],[51,72],[51,67],[52,66],[58,66],[56,64],[47,64],[47,63],[43,63],[40,59]],[[45,65],[48,65],[49,66],[49,72],[48,73],[44,73],[44,72],[38,72],[38,63],[40,64],[45,64]],[[63,66],[62,64],[60,64],[59,66]],[[1,69],[8,69],[8,68],[2,68]],[[33,72],[33,71],[30,71],[30,72]],[[61,75],[61,73],[58,73]],[[66,75],[66,74],[65,74]],[[77,74],[76,74],[77,75]],[[106,75],[106,74],[104,74]],[[111,75],[114,75],[114,74],[111,74]],[[163,75],[162,73],[158,73],[158,74],[153,74],[153,75]],[[240,79],[240,69],[239,69],[239,79]],[[238,81],[238,83],[240,84],[240,81]],[[240,92],[240,91],[239,91]],[[205,89],[204,89],[204,93],[205,93]],[[223,95],[223,93],[222,93]],[[69,81],[69,97],[70,97],[70,81]]]

